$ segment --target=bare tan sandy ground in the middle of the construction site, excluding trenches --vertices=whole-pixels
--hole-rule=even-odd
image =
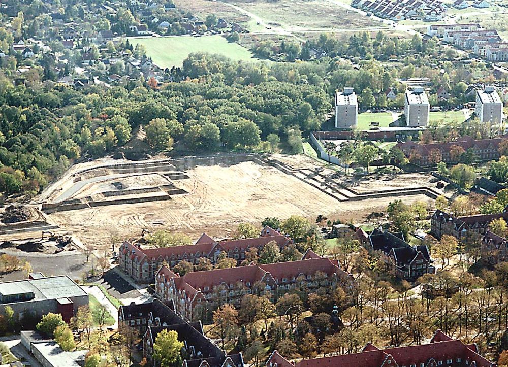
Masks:
[[[295,168],[315,168],[306,156],[277,156]],[[384,210],[393,197],[340,203],[333,197],[281,171],[253,162],[197,166],[178,180],[188,194],[169,201],[112,205],[56,212],[48,221],[79,237],[84,244],[109,245],[111,233],[138,237],[142,229],[164,228],[197,238],[227,236],[240,222],[260,223],[267,216],[287,218],[319,214],[359,222],[372,211]],[[428,201],[425,195],[404,196],[404,201]]]

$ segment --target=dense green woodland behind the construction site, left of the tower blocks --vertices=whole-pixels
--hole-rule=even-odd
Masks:
[[[319,128],[331,109],[322,88],[279,80],[264,65],[197,54],[180,72],[185,80],[161,88],[138,80],[79,91],[43,84],[42,70],[26,86],[1,75],[0,190],[37,192],[70,161],[111,152],[140,125],[154,150],[179,140],[189,150],[258,149],[268,136],[277,145],[273,135],[292,147],[294,136]]]

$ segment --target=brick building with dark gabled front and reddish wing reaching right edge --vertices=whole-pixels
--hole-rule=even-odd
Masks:
[[[438,240],[443,235],[460,240],[467,238],[472,232],[483,236],[487,233],[490,222],[499,218],[508,220],[508,212],[454,217],[452,214],[436,210],[430,218],[430,234]]]

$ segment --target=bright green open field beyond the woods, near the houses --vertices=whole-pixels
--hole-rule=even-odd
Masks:
[[[146,47],[146,54],[160,68],[172,68],[182,66],[183,60],[193,52],[217,53],[231,58],[232,60],[252,60],[252,53],[246,48],[224,37],[157,37],[157,38],[129,38],[133,45],[141,44]]]

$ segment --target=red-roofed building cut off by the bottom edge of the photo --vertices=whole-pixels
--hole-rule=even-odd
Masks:
[[[474,344],[464,344],[437,330],[429,344],[379,349],[368,343],[360,353],[304,359],[296,364],[274,351],[267,367],[495,367],[478,353]]]

